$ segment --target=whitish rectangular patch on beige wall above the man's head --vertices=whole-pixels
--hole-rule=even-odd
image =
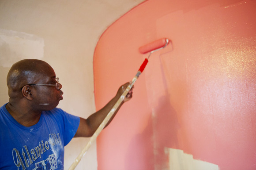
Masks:
[[[0,65],[11,67],[22,59],[41,59],[44,46],[44,39],[39,36],[0,29]]]

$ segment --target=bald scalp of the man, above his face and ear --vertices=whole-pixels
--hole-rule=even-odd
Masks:
[[[22,96],[19,92],[23,86],[33,84],[49,70],[53,71],[53,68],[48,63],[37,59],[25,59],[16,62],[12,65],[7,76],[10,98],[17,97],[17,95]]]

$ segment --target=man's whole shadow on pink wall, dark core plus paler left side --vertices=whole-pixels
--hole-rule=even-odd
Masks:
[[[147,127],[131,139],[125,159],[126,170],[169,169],[169,153],[165,152],[165,148],[179,148],[177,136],[180,124],[177,112],[169,105],[168,95],[159,98],[158,104],[152,113],[148,113],[151,116]]]

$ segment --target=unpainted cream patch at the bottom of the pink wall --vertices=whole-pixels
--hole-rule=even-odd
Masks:
[[[218,165],[193,159],[180,149],[165,148],[169,152],[169,170],[219,170]]]

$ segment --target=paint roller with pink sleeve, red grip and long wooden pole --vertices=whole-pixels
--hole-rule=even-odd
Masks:
[[[75,167],[78,165],[78,163],[80,162],[80,160],[83,158],[83,156],[86,154],[87,150],[90,148],[91,144],[93,143],[93,141],[96,140],[96,138],[98,137],[98,135],[100,134],[100,132],[102,131],[102,129],[105,127],[105,125],[109,122],[109,119],[113,116],[113,114],[116,112],[116,110],[118,109],[118,107],[120,106],[120,104],[122,103],[122,101],[124,100],[125,96],[128,94],[128,92],[132,89],[134,83],[136,82],[136,80],[139,78],[139,75],[143,72],[143,70],[145,69],[147,63],[148,63],[148,59],[150,57],[150,55],[158,50],[161,50],[163,48],[165,48],[167,46],[167,44],[169,43],[169,40],[167,38],[162,38],[159,40],[156,40],[152,43],[148,43],[147,45],[144,45],[142,47],[139,47],[139,52],[141,54],[146,54],[148,52],[150,52],[150,54],[148,55],[147,58],[145,58],[145,60],[143,61],[142,65],[140,66],[136,76],[134,76],[134,78],[132,79],[132,83],[130,85],[128,85],[128,87],[124,90],[123,94],[120,96],[120,98],[117,100],[116,104],[113,106],[113,108],[109,111],[109,113],[107,114],[107,116],[105,117],[105,119],[102,121],[102,123],[100,124],[100,126],[98,127],[98,129],[94,132],[94,134],[90,137],[89,142],[87,143],[87,145],[83,148],[83,150],[80,152],[80,154],[77,156],[77,158],[75,159],[75,161],[72,163],[72,165],[69,167],[68,170],[74,170]]]

